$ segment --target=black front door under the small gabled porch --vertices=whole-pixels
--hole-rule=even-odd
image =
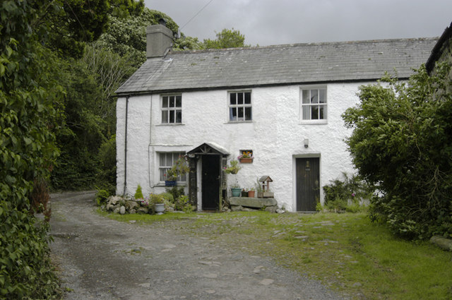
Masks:
[[[220,155],[203,155],[202,168],[203,210],[218,210],[220,205]]]

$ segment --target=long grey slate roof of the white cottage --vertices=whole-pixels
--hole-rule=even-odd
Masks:
[[[438,38],[169,52],[145,61],[117,94],[408,78]]]

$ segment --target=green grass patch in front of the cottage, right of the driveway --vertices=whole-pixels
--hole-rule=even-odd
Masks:
[[[181,231],[270,256],[354,299],[452,299],[452,253],[393,236],[364,213],[230,212],[110,215],[114,220],[188,220]]]

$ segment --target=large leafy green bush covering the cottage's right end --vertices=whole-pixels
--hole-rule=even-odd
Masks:
[[[450,66],[422,66],[407,83],[359,88],[360,104],[343,118],[359,175],[381,192],[371,217],[396,234],[452,236],[452,94]]]

